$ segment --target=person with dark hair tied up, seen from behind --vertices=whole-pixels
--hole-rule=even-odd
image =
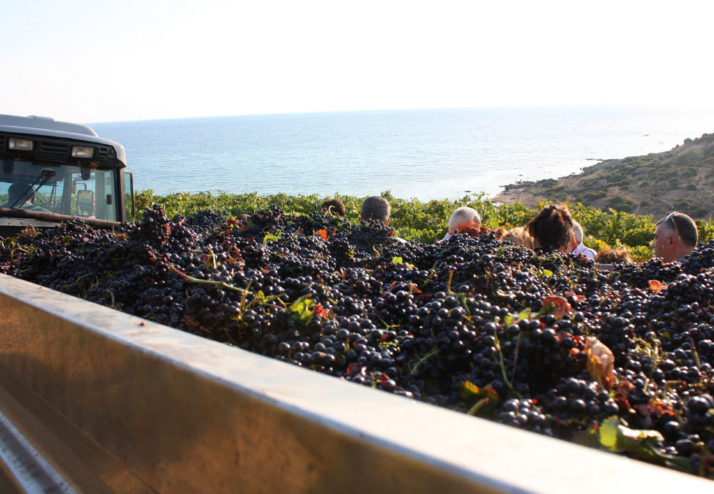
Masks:
[[[573,217],[565,204],[550,204],[544,207],[526,225],[533,237],[533,247],[567,254],[578,246],[573,232]]]

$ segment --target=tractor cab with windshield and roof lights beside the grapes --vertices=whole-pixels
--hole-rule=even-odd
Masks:
[[[134,220],[134,184],[121,144],[90,127],[0,115],[0,234],[80,218]]]

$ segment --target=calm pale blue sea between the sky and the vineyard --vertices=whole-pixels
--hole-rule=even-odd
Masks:
[[[100,122],[155,194],[493,197],[714,132],[714,109],[508,107]]]

